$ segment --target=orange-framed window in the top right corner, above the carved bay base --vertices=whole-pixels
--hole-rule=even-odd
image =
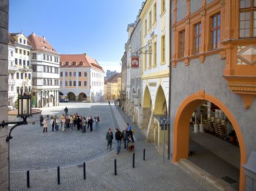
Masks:
[[[240,0],[240,38],[256,36],[256,0]]]

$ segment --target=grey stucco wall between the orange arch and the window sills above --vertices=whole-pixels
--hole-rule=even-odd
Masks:
[[[240,126],[245,142],[247,158],[251,150],[256,150],[256,100],[250,109],[244,109],[242,99],[228,89],[227,81],[222,77],[225,69],[225,60],[220,56],[207,56],[205,63],[199,59],[191,60],[189,66],[177,63],[177,68],[172,68],[171,86],[171,150],[173,144],[174,120],[179,105],[187,96],[204,89],[215,98],[219,99],[232,112]]]

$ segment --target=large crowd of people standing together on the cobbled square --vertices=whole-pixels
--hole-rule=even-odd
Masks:
[[[60,119],[56,115],[54,117],[51,117],[50,124],[52,126],[52,131],[54,131],[55,129],[56,132],[58,132],[59,125],[62,131],[68,130],[68,129],[72,131],[74,128],[77,128],[77,130],[82,129],[82,133],[85,133],[86,126],[87,126],[87,129],[90,128],[90,131],[92,131],[92,124],[94,123],[92,116],[88,116],[87,118],[85,118],[85,116],[78,115],[78,113],[75,113],[74,115],[69,115],[67,107],[64,109],[64,112],[65,114],[62,114]],[[95,129],[97,128],[99,129],[99,116],[98,115],[95,116],[94,119],[96,123]],[[42,114],[40,115],[40,125],[44,126],[43,132],[47,132],[48,121],[47,121],[47,118],[44,118],[42,116]]]

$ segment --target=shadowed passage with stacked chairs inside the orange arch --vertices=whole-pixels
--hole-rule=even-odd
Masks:
[[[225,113],[211,102],[195,100],[180,116],[177,149],[182,152],[176,157],[187,158],[238,190],[240,148],[237,138],[231,140],[234,128]]]

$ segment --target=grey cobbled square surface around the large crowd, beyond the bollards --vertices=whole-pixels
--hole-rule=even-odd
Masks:
[[[12,131],[13,139],[10,141],[11,172],[76,165],[108,153],[105,150],[107,129],[118,126],[112,109],[106,104],[98,103],[65,103],[66,105],[69,113],[77,112],[92,117],[99,115],[99,130],[95,130],[95,124],[93,131],[89,132],[87,129],[87,133],[81,133],[77,129],[72,132],[51,132],[51,126],[47,133],[43,133],[39,122],[19,126]],[[60,116],[65,106],[62,103],[62,106],[45,108],[42,113]]]

